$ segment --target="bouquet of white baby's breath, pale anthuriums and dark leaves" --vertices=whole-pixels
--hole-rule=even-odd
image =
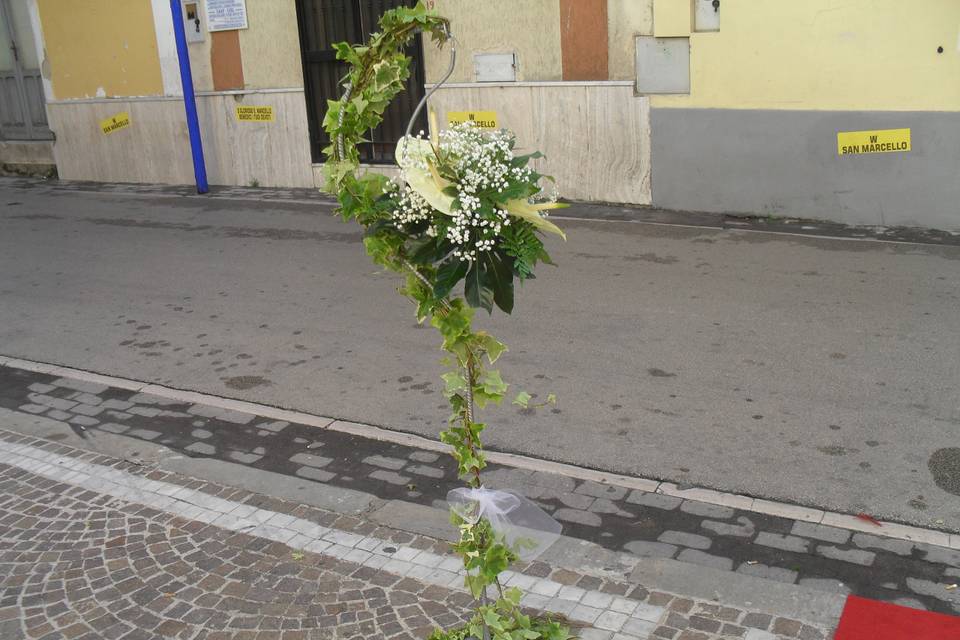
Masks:
[[[514,156],[510,132],[465,122],[438,133],[431,121],[429,141],[404,138],[397,145],[401,171],[400,182],[388,184],[391,221],[417,243],[414,264],[438,264],[441,294],[464,280],[470,306],[490,311],[496,304],[510,313],[514,277],[532,278],[538,262],[552,264],[537,232],[564,236],[544,217],[563,205],[542,191],[548,178],[528,166],[540,154]]]

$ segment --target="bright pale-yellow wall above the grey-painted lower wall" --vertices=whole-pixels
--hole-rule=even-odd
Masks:
[[[690,36],[690,95],[651,104],[957,111],[958,29],[958,0],[723,0],[720,31]]]

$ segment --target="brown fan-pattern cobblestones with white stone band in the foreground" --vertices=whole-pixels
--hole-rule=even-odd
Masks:
[[[0,430],[0,636],[413,638],[468,615],[438,540]],[[539,563],[505,574],[583,640],[829,630]]]

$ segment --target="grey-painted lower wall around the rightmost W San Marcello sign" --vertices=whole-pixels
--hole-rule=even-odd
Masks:
[[[654,206],[960,230],[960,113],[652,109]],[[912,150],[837,154],[838,131]]]

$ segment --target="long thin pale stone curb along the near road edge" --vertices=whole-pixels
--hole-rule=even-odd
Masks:
[[[391,442],[429,451],[438,451],[443,453],[447,451],[446,445],[436,440],[431,440],[429,438],[424,438],[422,436],[413,434],[391,431],[375,425],[338,420],[336,418],[281,409],[278,407],[272,407],[270,405],[258,404],[244,400],[234,400],[231,398],[225,398],[222,396],[200,393],[196,391],[185,391],[181,389],[165,387],[162,385],[131,380],[128,378],[93,373],[72,367],[64,367],[60,365],[2,355],[0,355],[0,366],[73,378],[75,380],[81,380],[85,382],[105,384],[130,391],[150,393],[156,396],[169,398],[171,400],[189,403],[201,403],[221,409],[264,416],[275,420],[298,422],[301,424],[319,427],[321,429],[340,431],[352,435],[363,436],[373,440]],[[924,529],[921,527],[915,527],[896,522],[879,521],[880,524],[877,525],[849,514],[802,507],[761,498],[753,498],[751,496],[716,491],[713,489],[680,488],[678,485],[671,482],[660,482],[647,478],[598,471],[571,464],[542,460],[514,453],[489,451],[487,458],[490,462],[515,467],[518,469],[544,471],[578,480],[590,480],[600,484],[626,487],[648,493],[660,493],[711,505],[732,507],[736,509],[742,509],[744,511],[753,511],[766,515],[802,520],[814,524],[829,525],[850,531],[871,533],[877,536],[893,538],[896,540],[921,542],[960,550],[960,534],[951,534],[934,529]]]

